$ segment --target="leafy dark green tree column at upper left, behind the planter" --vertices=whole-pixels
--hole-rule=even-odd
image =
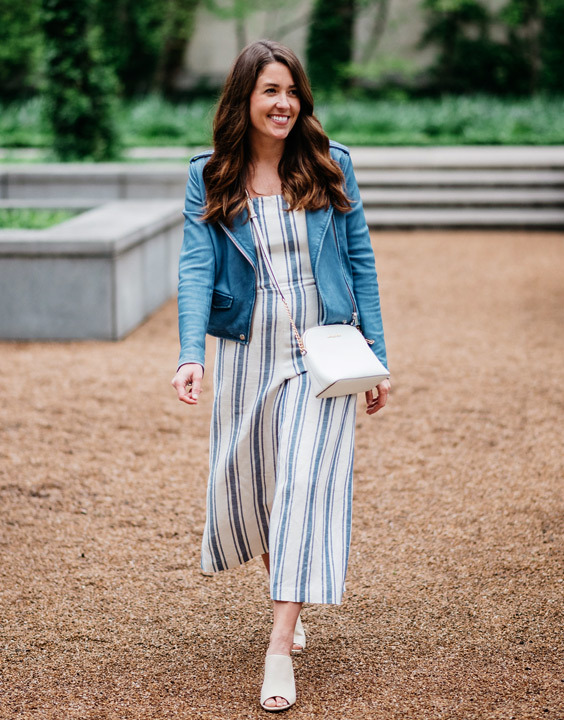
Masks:
[[[88,0],[43,0],[45,112],[61,160],[105,160],[118,148],[115,79],[103,64]]]

